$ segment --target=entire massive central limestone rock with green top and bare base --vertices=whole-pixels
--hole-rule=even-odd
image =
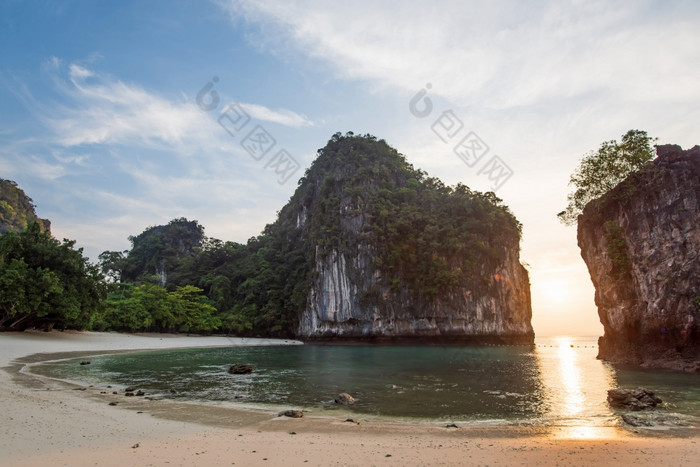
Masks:
[[[297,335],[531,343],[519,227],[500,200],[426,179],[383,141],[335,143],[281,214],[313,245]]]

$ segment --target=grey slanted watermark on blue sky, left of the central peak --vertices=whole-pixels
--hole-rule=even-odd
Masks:
[[[197,106],[205,111],[212,112],[219,108],[221,97],[214,90],[214,86],[219,82],[219,77],[214,76],[202,89],[197,93]],[[256,161],[264,161],[268,155],[272,155],[265,164],[264,169],[272,170],[277,176],[277,183],[284,184],[292,178],[297,170],[301,168],[299,162],[294,159],[289,152],[284,148],[278,148],[277,139],[267,131],[262,125],[251,123],[253,119],[245,111],[239,103],[227,105],[221,112],[216,121],[221,128],[232,138],[243,136],[239,142],[249,155]],[[252,126],[252,129],[248,129]]]

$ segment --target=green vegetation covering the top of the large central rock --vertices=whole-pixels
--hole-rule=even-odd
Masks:
[[[445,186],[371,135],[335,134],[290,205],[293,214],[299,206],[308,213],[311,246],[353,257],[359,243],[372,245],[382,272],[377,286],[406,290],[414,300],[473,281],[482,265],[503,259],[504,242],[520,236],[493,193]],[[359,224],[363,230],[349,234]],[[376,303],[378,296],[367,298]]]

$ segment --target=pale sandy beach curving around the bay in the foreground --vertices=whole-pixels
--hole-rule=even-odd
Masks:
[[[0,334],[0,464],[675,466],[697,465],[700,458],[697,436],[671,432],[446,428],[357,416],[360,423],[352,423],[340,414],[289,419],[267,411],[125,398],[106,388],[76,388],[20,372],[27,363],[71,355],[272,342],[83,332]]]

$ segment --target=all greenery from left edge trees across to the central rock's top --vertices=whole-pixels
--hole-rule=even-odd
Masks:
[[[519,236],[493,193],[447,187],[383,140],[337,133],[246,244],[174,219],[129,237],[128,251],[103,252],[98,269],[38,224],[3,235],[0,326],[289,336],[329,254],[371,250],[381,274],[363,299],[375,305],[381,290],[433,301],[465,282],[478,289]]]

